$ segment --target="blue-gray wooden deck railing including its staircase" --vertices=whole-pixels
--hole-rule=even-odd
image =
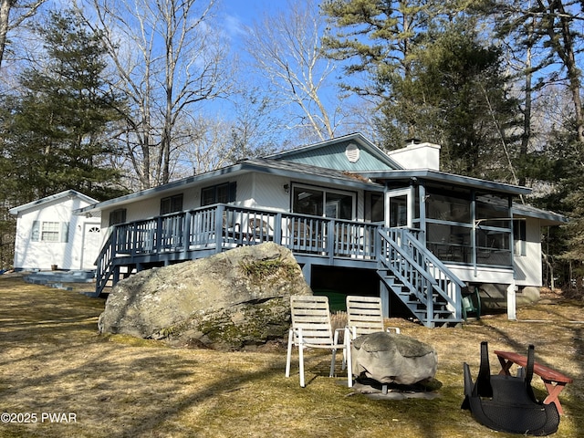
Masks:
[[[264,242],[289,248],[305,276],[315,265],[375,270],[416,318],[462,320],[464,284],[412,230],[226,204],[115,225],[99,254],[96,295],[132,271]]]

